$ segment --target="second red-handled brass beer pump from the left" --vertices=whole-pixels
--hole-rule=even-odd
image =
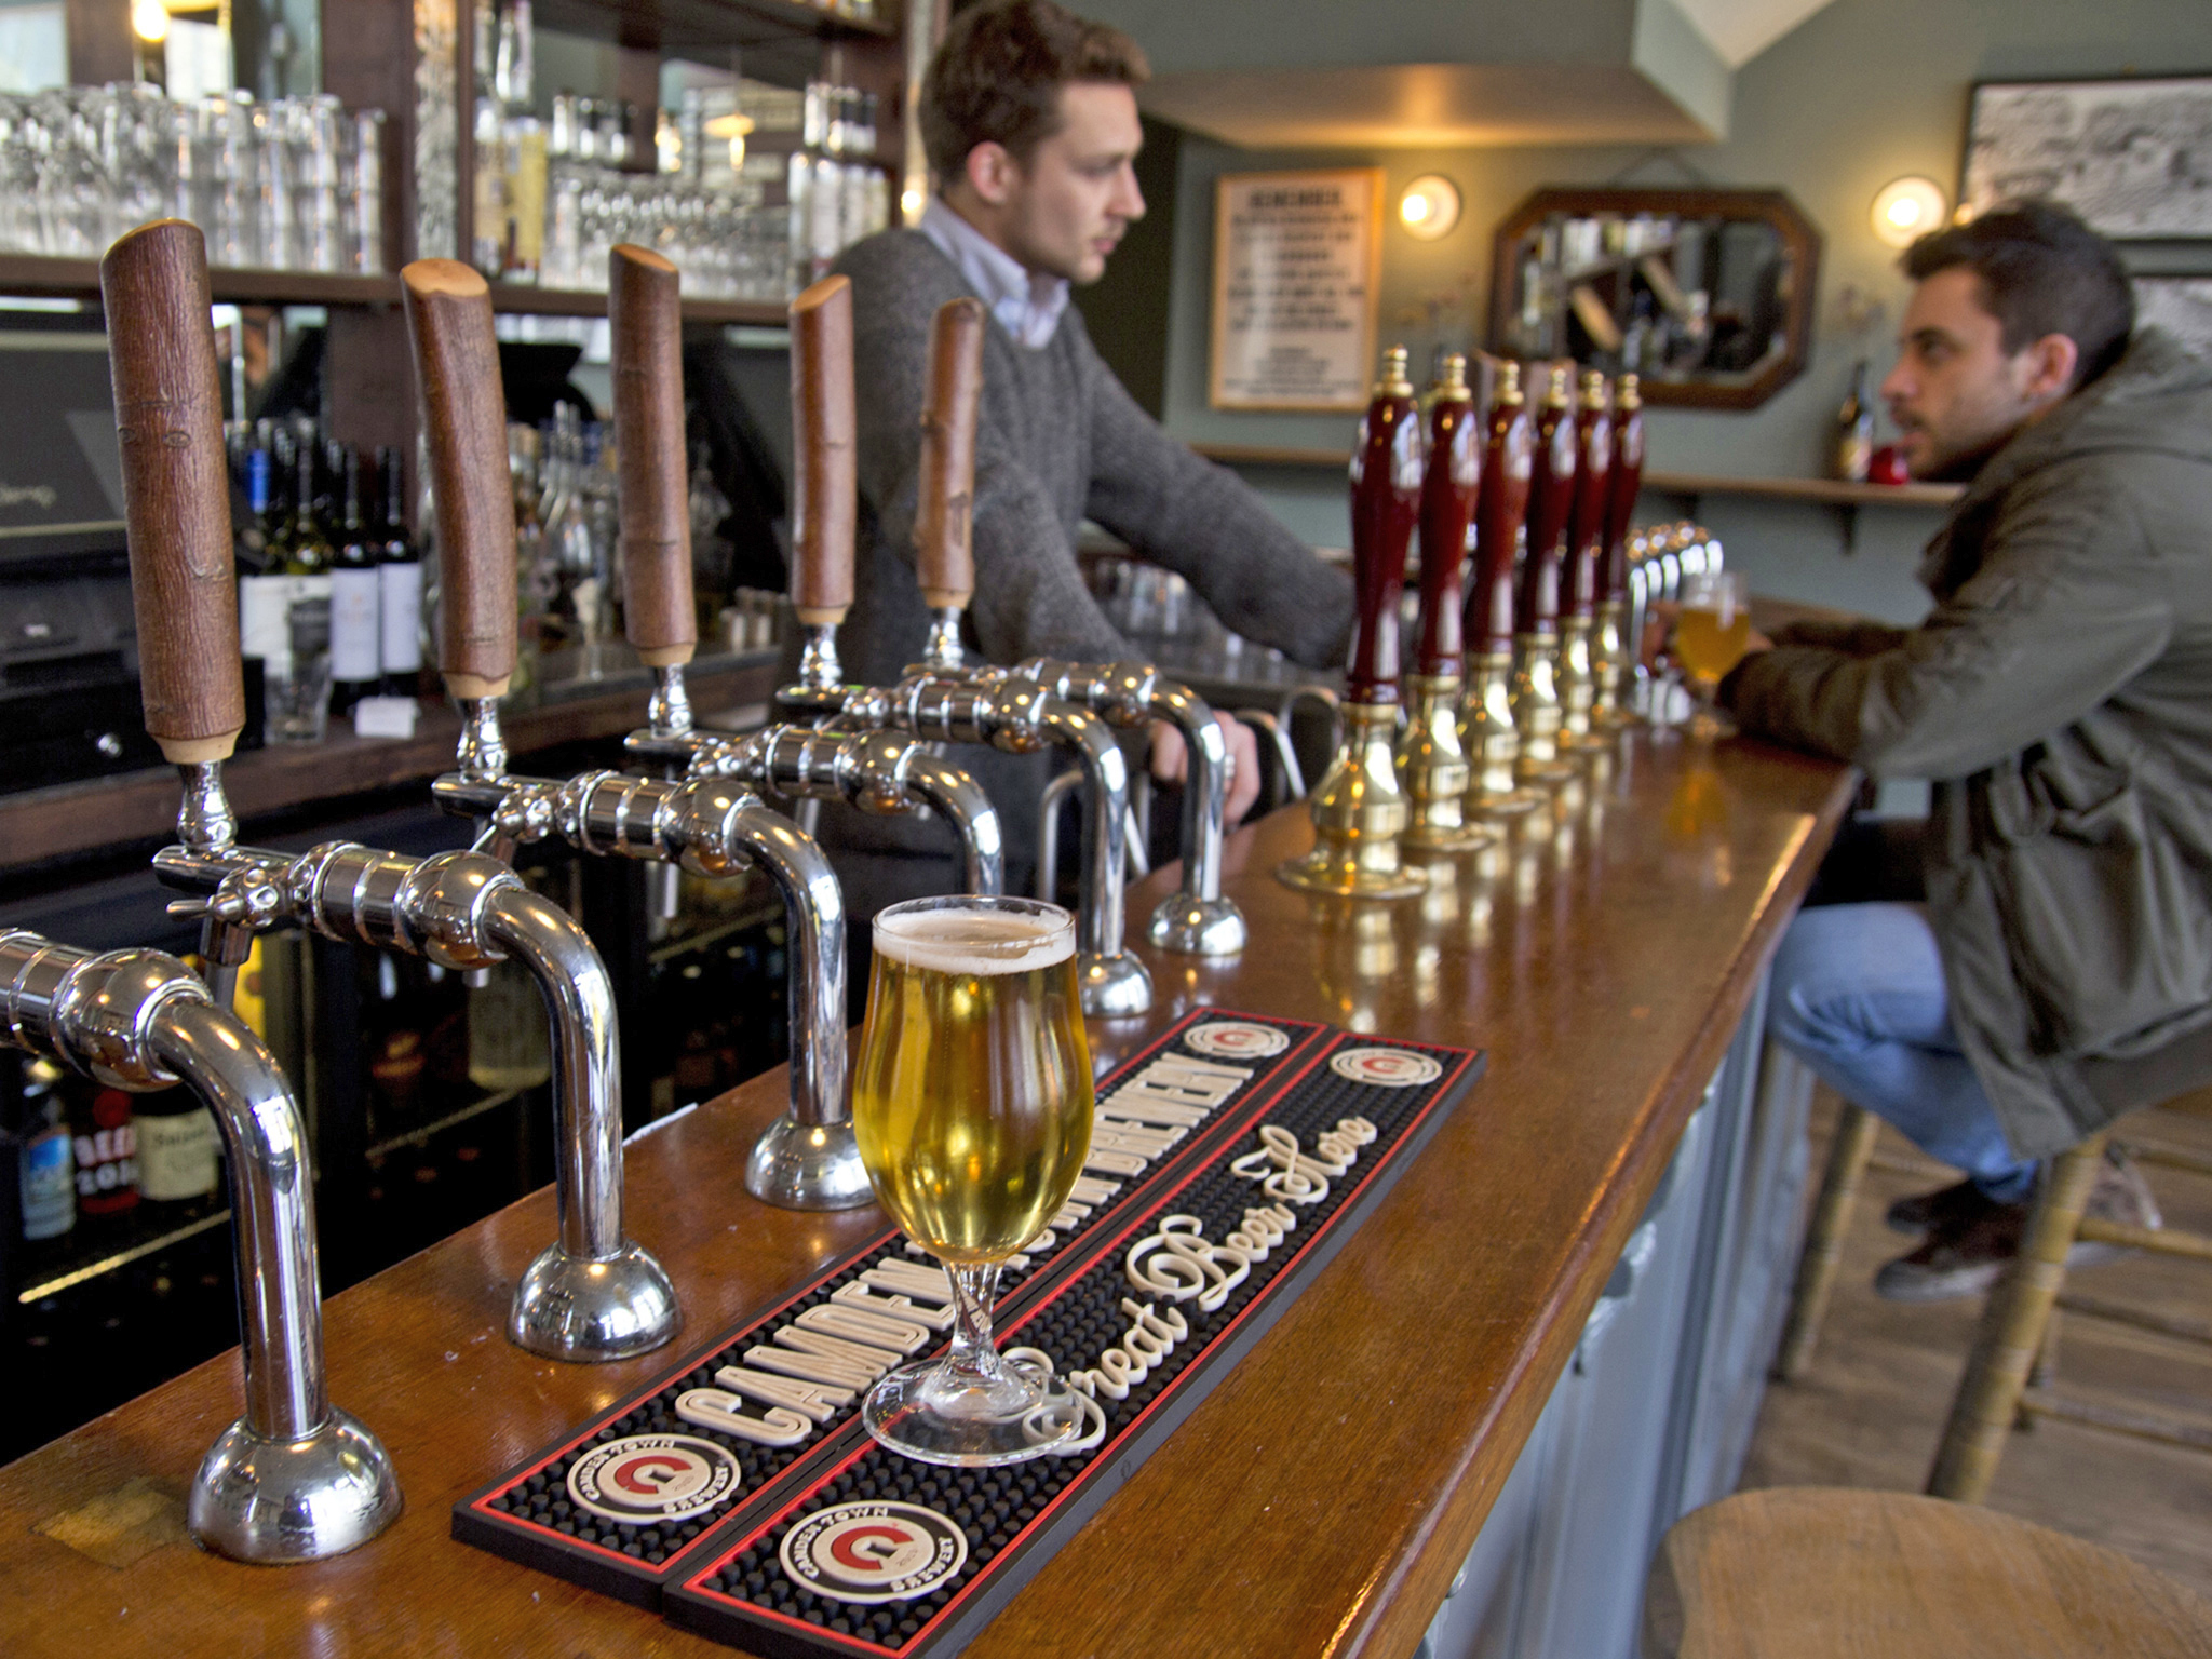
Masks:
[[[1469,852],[1493,838],[1467,823],[1467,752],[1460,748],[1460,644],[1467,538],[1482,487],[1482,425],[1467,389],[1467,358],[1447,356],[1429,396],[1429,462],[1420,482],[1420,626],[1407,675],[1407,726],[1398,781],[1409,818],[1405,845]]]

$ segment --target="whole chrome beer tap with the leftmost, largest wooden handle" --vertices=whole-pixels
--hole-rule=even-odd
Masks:
[[[228,480],[199,232],[164,221],[102,261],[115,409],[139,606],[146,730],[184,770],[179,845],[155,869],[197,898],[173,905],[223,942],[296,922],[325,938],[453,969],[520,958],[555,1026],[560,1241],[515,1290],[507,1334],[555,1358],[611,1360],[666,1343],[675,1292],[622,1237],[622,1113],[613,987],[591,940],[482,854],[400,858],[349,843],[305,854],[234,845],[221,761],[243,726]],[[504,465],[504,434],[500,442]],[[511,624],[509,624],[511,626]]]

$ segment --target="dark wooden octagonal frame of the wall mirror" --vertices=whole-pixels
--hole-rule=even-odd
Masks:
[[[1756,409],[1805,369],[1812,354],[1812,307],[1820,285],[1820,232],[1812,219],[1783,190],[1566,190],[1544,188],[1522,201],[1498,221],[1491,241],[1491,345],[1504,356],[1513,330],[1513,296],[1517,272],[1511,270],[1515,246],[1544,219],[1555,212],[1595,217],[1615,212],[1635,217],[1639,212],[1670,215],[1679,219],[1739,219],[1759,221],[1774,228],[1783,252],[1790,257],[1790,296],[1783,307],[1783,338],[1787,341],[1778,358],[1765,361],[1754,376],[1732,385],[1701,385],[1694,380],[1644,378],[1644,403],[1674,405],[1688,409]]]

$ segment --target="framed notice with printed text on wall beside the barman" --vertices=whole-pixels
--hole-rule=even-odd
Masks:
[[[1217,179],[1208,403],[1365,409],[1380,261],[1380,168]]]

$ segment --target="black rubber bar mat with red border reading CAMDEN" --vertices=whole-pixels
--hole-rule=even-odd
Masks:
[[[1048,1230],[1055,1243],[1006,1272],[1004,1314],[1079,1267],[1084,1243],[1161,1181],[1210,1159],[1303,1075],[1323,1042],[1327,1026],[1310,1020],[1199,1009],[1117,1066],[1099,1084],[1091,1161]],[[774,1310],[692,1349],[611,1411],[453,1504],[453,1537],[657,1608],[661,1593],[703,1559],[717,1526],[803,1489],[807,1471],[834,1455],[865,1389],[834,1383],[854,1314],[865,1327],[872,1316],[922,1310],[938,1325],[942,1310],[918,1294],[929,1276],[942,1285],[933,1261],[885,1230]],[[796,1376],[783,1376],[794,1367]],[[728,1400],[719,1376],[726,1369],[790,1398],[748,1396],[737,1409],[741,1422],[717,1427],[723,1418],[699,1405]]]

